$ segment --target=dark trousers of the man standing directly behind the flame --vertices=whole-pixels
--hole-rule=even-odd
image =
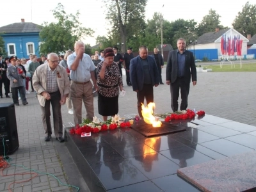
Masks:
[[[153,93],[153,86],[152,84],[143,84],[143,88],[141,91],[137,92],[137,99],[138,99],[138,113],[140,117],[142,117],[141,113],[141,103],[144,104],[144,99],[146,98],[147,104],[150,102],[154,102],[154,93]]]

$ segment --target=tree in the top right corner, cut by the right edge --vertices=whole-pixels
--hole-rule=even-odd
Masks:
[[[234,29],[242,35],[256,34],[256,4],[247,2],[243,6],[242,12],[239,12],[236,19],[232,23]]]

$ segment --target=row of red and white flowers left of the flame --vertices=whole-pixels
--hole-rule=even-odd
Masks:
[[[70,129],[70,134],[82,134],[83,132],[100,132],[117,129],[118,127],[125,128],[131,127],[130,122],[124,122],[124,118],[121,118],[119,115],[111,117],[111,119],[106,122],[100,122],[97,116],[93,116],[93,121],[91,122],[88,119],[84,119],[83,123],[76,125],[76,127]]]

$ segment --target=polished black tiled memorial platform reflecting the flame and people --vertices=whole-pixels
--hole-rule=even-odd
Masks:
[[[256,148],[252,125],[212,115],[170,124],[186,131],[147,138],[126,127],[82,138],[68,127],[66,145],[90,190],[109,192],[200,191],[177,170]]]

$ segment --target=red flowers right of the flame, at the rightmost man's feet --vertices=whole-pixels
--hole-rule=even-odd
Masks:
[[[164,118],[164,122],[170,122],[171,120],[186,120],[195,118],[195,116],[205,115],[204,111],[192,111],[191,109],[187,109],[184,111],[177,111],[175,113],[171,113],[170,115],[166,115]]]

